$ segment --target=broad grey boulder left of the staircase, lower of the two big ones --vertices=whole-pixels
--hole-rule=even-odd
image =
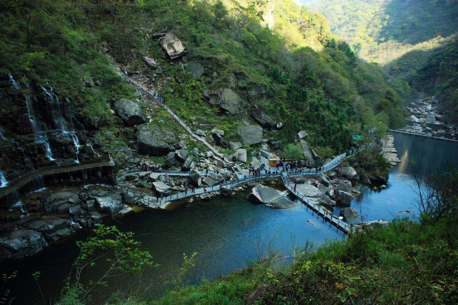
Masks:
[[[147,131],[145,128],[142,129],[137,138],[139,150],[153,156],[167,154],[170,151],[170,143],[174,142],[175,135],[172,132]]]

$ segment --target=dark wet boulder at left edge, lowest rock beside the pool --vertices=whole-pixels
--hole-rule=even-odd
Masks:
[[[15,230],[0,237],[0,260],[29,257],[43,249],[44,238],[40,232]]]

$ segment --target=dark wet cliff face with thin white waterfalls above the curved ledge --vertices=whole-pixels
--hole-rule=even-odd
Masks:
[[[43,166],[92,159],[97,155],[91,146],[92,134],[82,122],[71,102],[48,84],[20,84],[11,75],[0,75],[0,172],[4,179]]]

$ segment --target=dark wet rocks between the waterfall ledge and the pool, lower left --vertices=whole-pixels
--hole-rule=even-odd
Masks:
[[[120,192],[112,189],[37,194],[27,206],[29,217],[21,218],[15,211],[0,215],[0,260],[31,256],[81,227],[93,227],[106,216],[130,211]]]

